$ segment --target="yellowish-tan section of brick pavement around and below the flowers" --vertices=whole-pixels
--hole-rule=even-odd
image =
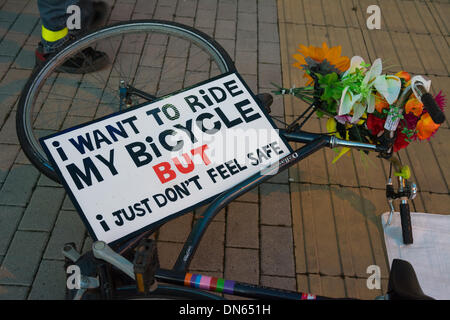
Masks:
[[[366,8],[381,8],[381,30],[368,30]],[[376,58],[395,65],[392,72],[407,70],[433,80],[433,92],[449,88],[446,62],[449,54],[446,1],[314,1],[278,2],[283,84],[304,83],[302,72],[294,67],[292,54],[298,44],[342,46],[343,55],[360,55],[366,61]],[[284,98],[286,117],[298,116],[305,105]],[[449,114],[448,108],[446,114]],[[448,118],[448,116],[447,116]],[[311,131],[326,132],[324,120],[308,123]],[[400,152],[412,169],[420,194],[414,210],[450,213],[448,189],[447,123],[435,140],[414,143]],[[357,152],[336,164],[334,154],[323,150],[289,172],[297,285],[308,283],[323,294],[371,298],[374,292],[364,286],[366,268],[381,267],[388,275],[380,215],[387,211],[384,199],[386,163],[371,155],[364,163]],[[351,281],[350,281],[351,279]],[[386,283],[382,284],[382,290]]]

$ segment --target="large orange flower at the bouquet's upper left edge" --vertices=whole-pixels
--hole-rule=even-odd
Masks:
[[[305,60],[307,57],[319,63],[327,59],[331,65],[342,72],[346,71],[350,67],[350,59],[348,57],[341,56],[341,46],[328,48],[327,44],[324,42],[322,44],[322,48],[314,46],[306,47],[302,44],[299,45],[299,47],[300,48],[297,49],[297,51],[300,52],[300,54],[296,53],[293,55],[295,60],[297,60],[297,62],[294,63],[294,66],[299,69],[303,69],[302,65],[307,64]],[[313,83],[313,79],[308,74],[305,73],[303,77],[308,79],[307,85]]]

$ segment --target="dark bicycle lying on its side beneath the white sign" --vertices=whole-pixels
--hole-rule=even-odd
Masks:
[[[133,43],[130,42],[133,39],[136,40],[135,46],[127,47],[127,44]],[[76,54],[82,54],[83,50],[89,47],[96,50],[109,50],[107,51],[108,56],[114,58],[107,70],[85,75],[64,75],[56,71],[58,65]],[[180,52],[179,48],[184,51]],[[141,57],[143,53],[149,53],[150,58]],[[120,58],[125,58],[129,65],[126,68],[128,75],[121,74],[125,67],[122,69],[118,65],[117,61]],[[195,60],[197,60],[197,64],[190,65]],[[179,65],[168,66],[169,63],[177,61]],[[180,68],[180,66],[184,67]],[[153,71],[158,82],[142,81],[144,71],[147,73]],[[175,75],[174,72],[177,71],[182,71],[183,75]],[[48,120],[46,114],[52,115],[58,108],[55,106],[56,104],[62,105],[64,116],[79,117],[83,121],[89,121],[89,118],[91,120],[99,118],[123,108],[139,105],[142,101],[153,101],[158,96],[165,96],[180,87],[189,86],[192,79],[188,79],[186,74],[196,76],[194,80],[199,82],[199,77],[209,79],[216,74],[233,71],[235,71],[235,67],[227,52],[212,38],[190,27],[156,20],[130,21],[107,26],[74,39],[52,57],[46,65],[33,72],[22,92],[17,110],[19,141],[30,161],[46,176],[60,182],[55,169],[38,142],[39,137],[72,125],[67,122],[67,118],[64,120],[58,117],[54,118],[56,124],[45,123]],[[112,81],[106,81],[104,76],[108,76],[108,79],[112,79]],[[149,77],[149,80],[151,79]],[[85,82],[82,83],[82,81]],[[98,81],[97,86],[95,86],[96,81]],[[174,81],[175,86],[173,86]],[[166,85],[168,87],[165,87]],[[418,89],[422,90],[422,88]],[[426,93],[423,92],[423,94]],[[260,94],[256,97],[260,107],[270,112],[271,96]],[[88,108],[77,109],[77,105],[72,103],[72,98],[82,101]],[[70,109],[71,107],[74,109]],[[312,107],[313,105],[310,106],[310,108]],[[428,104],[427,107],[437,112],[433,104]],[[203,218],[196,222],[172,270],[159,268],[154,242],[148,240],[162,224],[156,224],[152,230],[139,234],[131,240],[118,243],[113,248],[105,242],[96,241],[92,251],[82,256],[76,251],[73,244],[67,244],[63,250],[66,262],[78,265],[83,275],[80,289],[69,291],[68,297],[74,299],[221,298],[208,293],[209,290],[250,298],[325,299],[325,297],[307,293],[266,288],[186,272],[202,235],[218,212],[237,197],[267,181],[272,174],[286,170],[324,147],[345,146],[378,152],[384,157],[391,155],[392,145],[389,145],[389,141],[392,139],[386,139],[386,144],[374,145],[347,141],[326,134],[304,132],[300,130],[301,125],[298,125],[300,119],[301,117],[296,119],[287,129],[280,130],[280,136],[288,141],[305,145],[283,157],[276,165],[252,175],[217,196],[204,212]],[[46,125],[47,127],[45,127]],[[406,186],[404,180],[401,183],[403,189],[395,194],[390,188],[390,196],[391,199],[401,197],[403,201],[407,201],[410,194],[404,190]],[[406,206],[402,212],[406,212]],[[134,262],[131,263],[126,257],[131,258],[133,254]],[[167,284],[161,284],[162,282]],[[391,299],[430,298],[420,289],[412,267],[407,262],[400,260],[394,260],[392,264],[386,297]]]

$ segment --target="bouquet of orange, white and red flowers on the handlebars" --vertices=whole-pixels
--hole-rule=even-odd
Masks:
[[[431,81],[422,76],[411,77],[406,71],[382,74],[382,61],[372,65],[363,58],[341,56],[341,47],[306,47],[300,45],[294,64],[305,71],[306,86],[285,89],[277,86],[275,94],[292,94],[313,106],[319,117],[328,116],[327,131],[341,139],[380,143],[386,128],[394,131],[393,151],[407,147],[412,141],[430,139],[437,124],[425,110],[416,81],[427,91]],[[413,94],[408,94],[411,92]],[[408,91],[409,90],[409,91]],[[400,99],[405,93],[403,99]],[[445,96],[439,92],[435,101],[441,111]],[[349,149],[343,148],[335,162]]]

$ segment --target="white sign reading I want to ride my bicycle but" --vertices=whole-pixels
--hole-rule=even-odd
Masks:
[[[94,240],[188,212],[290,153],[235,73],[41,139]]]

